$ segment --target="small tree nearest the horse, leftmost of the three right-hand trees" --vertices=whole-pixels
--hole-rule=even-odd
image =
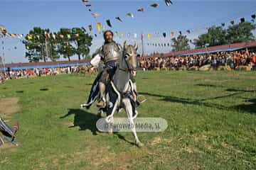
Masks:
[[[190,49],[186,35],[178,35],[177,38],[172,38],[171,40],[174,42],[174,44],[171,45],[171,47],[173,47],[173,52]]]

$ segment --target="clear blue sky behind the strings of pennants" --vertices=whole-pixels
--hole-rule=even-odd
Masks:
[[[170,52],[171,47],[155,47],[148,43],[171,43],[171,38],[178,35],[181,30],[191,40],[198,35],[206,33],[210,26],[230,26],[230,21],[235,23],[244,17],[245,21],[251,20],[251,15],[256,13],[256,1],[247,0],[172,0],[171,6],[166,6],[164,0],[0,0],[0,25],[4,26],[9,33],[28,34],[33,27],[49,28],[50,32],[57,32],[60,28],[84,27],[93,35],[90,52],[100,47],[104,40],[102,33],[97,31],[96,23],[100,22],[106,29],[113,32],[124,32],[124,36],[114,36],[114,40],[123,43],[137,42],[138,52],[142,52],[140,34],[144,34],[144,54],[152,52]],[[159,4],[152,8],[151,4]],[[96,19],[88,11],[85,4],[91,4],[91,10],[100,13]],[[144,8],[144,12],[138,12],[138,8]],[[127,16],[133,13],[134,18]],[[117,21],[116,16],[123,22]],[[108,27],[106,20],[110,19],[112,28]],[[256,22],[256,21],[255,21]],[[88,26],[92,25],[92,32]],[[191,30],[190,34],[186,30]],[[174,37],[171,37],[171,31]],[[97,33],[97,37],[95,37]],[[128,33],[130,36],[128,36]],[[134,33],[137,38],[134,38]],[[152,37],[147,38],[151,33]],[[159,35],[157,35],[159,33]],[[162,33],[166,33],[166,38]],[[256,35],[255,31],[254,34]],[[0,38],[0,56],[5,63],[28,62],[25,57],[26,49],[17,38]],[[4,49],[3,49],[4,47]],[[191,45],[193,47],[193,45]],[[71,60],[77,60],[76,56]],[[66,60],[60,58],[60,60]]]

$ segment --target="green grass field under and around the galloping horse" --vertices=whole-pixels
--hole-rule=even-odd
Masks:
[[[98,132],[96,108],[80,109],[95,75],[16,79],[18,147],[0,147],[0,169],[256,169],[256,72],[139,72],[148,99],[138,117],[164,118],[164,132]],[[0,108],[4,109],[4,108]],[[4,112],[2,110],[2,112]],[[117,113],[115,117],[124,117]]]

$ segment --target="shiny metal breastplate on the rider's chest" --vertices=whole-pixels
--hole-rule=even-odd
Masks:
[[[119,60],[121,52],[116,43],[110,42],[103,45],[102,55],[104,56],[103,57],[104,62],[110,62],[114,60]]]

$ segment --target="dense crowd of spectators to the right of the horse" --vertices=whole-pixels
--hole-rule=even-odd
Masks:
[[[235,69],[239,66],[253,67],[256,64],[256,55],[247,50],[235,52],[217,52],[204,55],[190,55],[181,57],[151,57],[140,60],[139,66],[144,70],[170,69],[186,67],[202,67],[210,64],[213,69],[218,66]]]

